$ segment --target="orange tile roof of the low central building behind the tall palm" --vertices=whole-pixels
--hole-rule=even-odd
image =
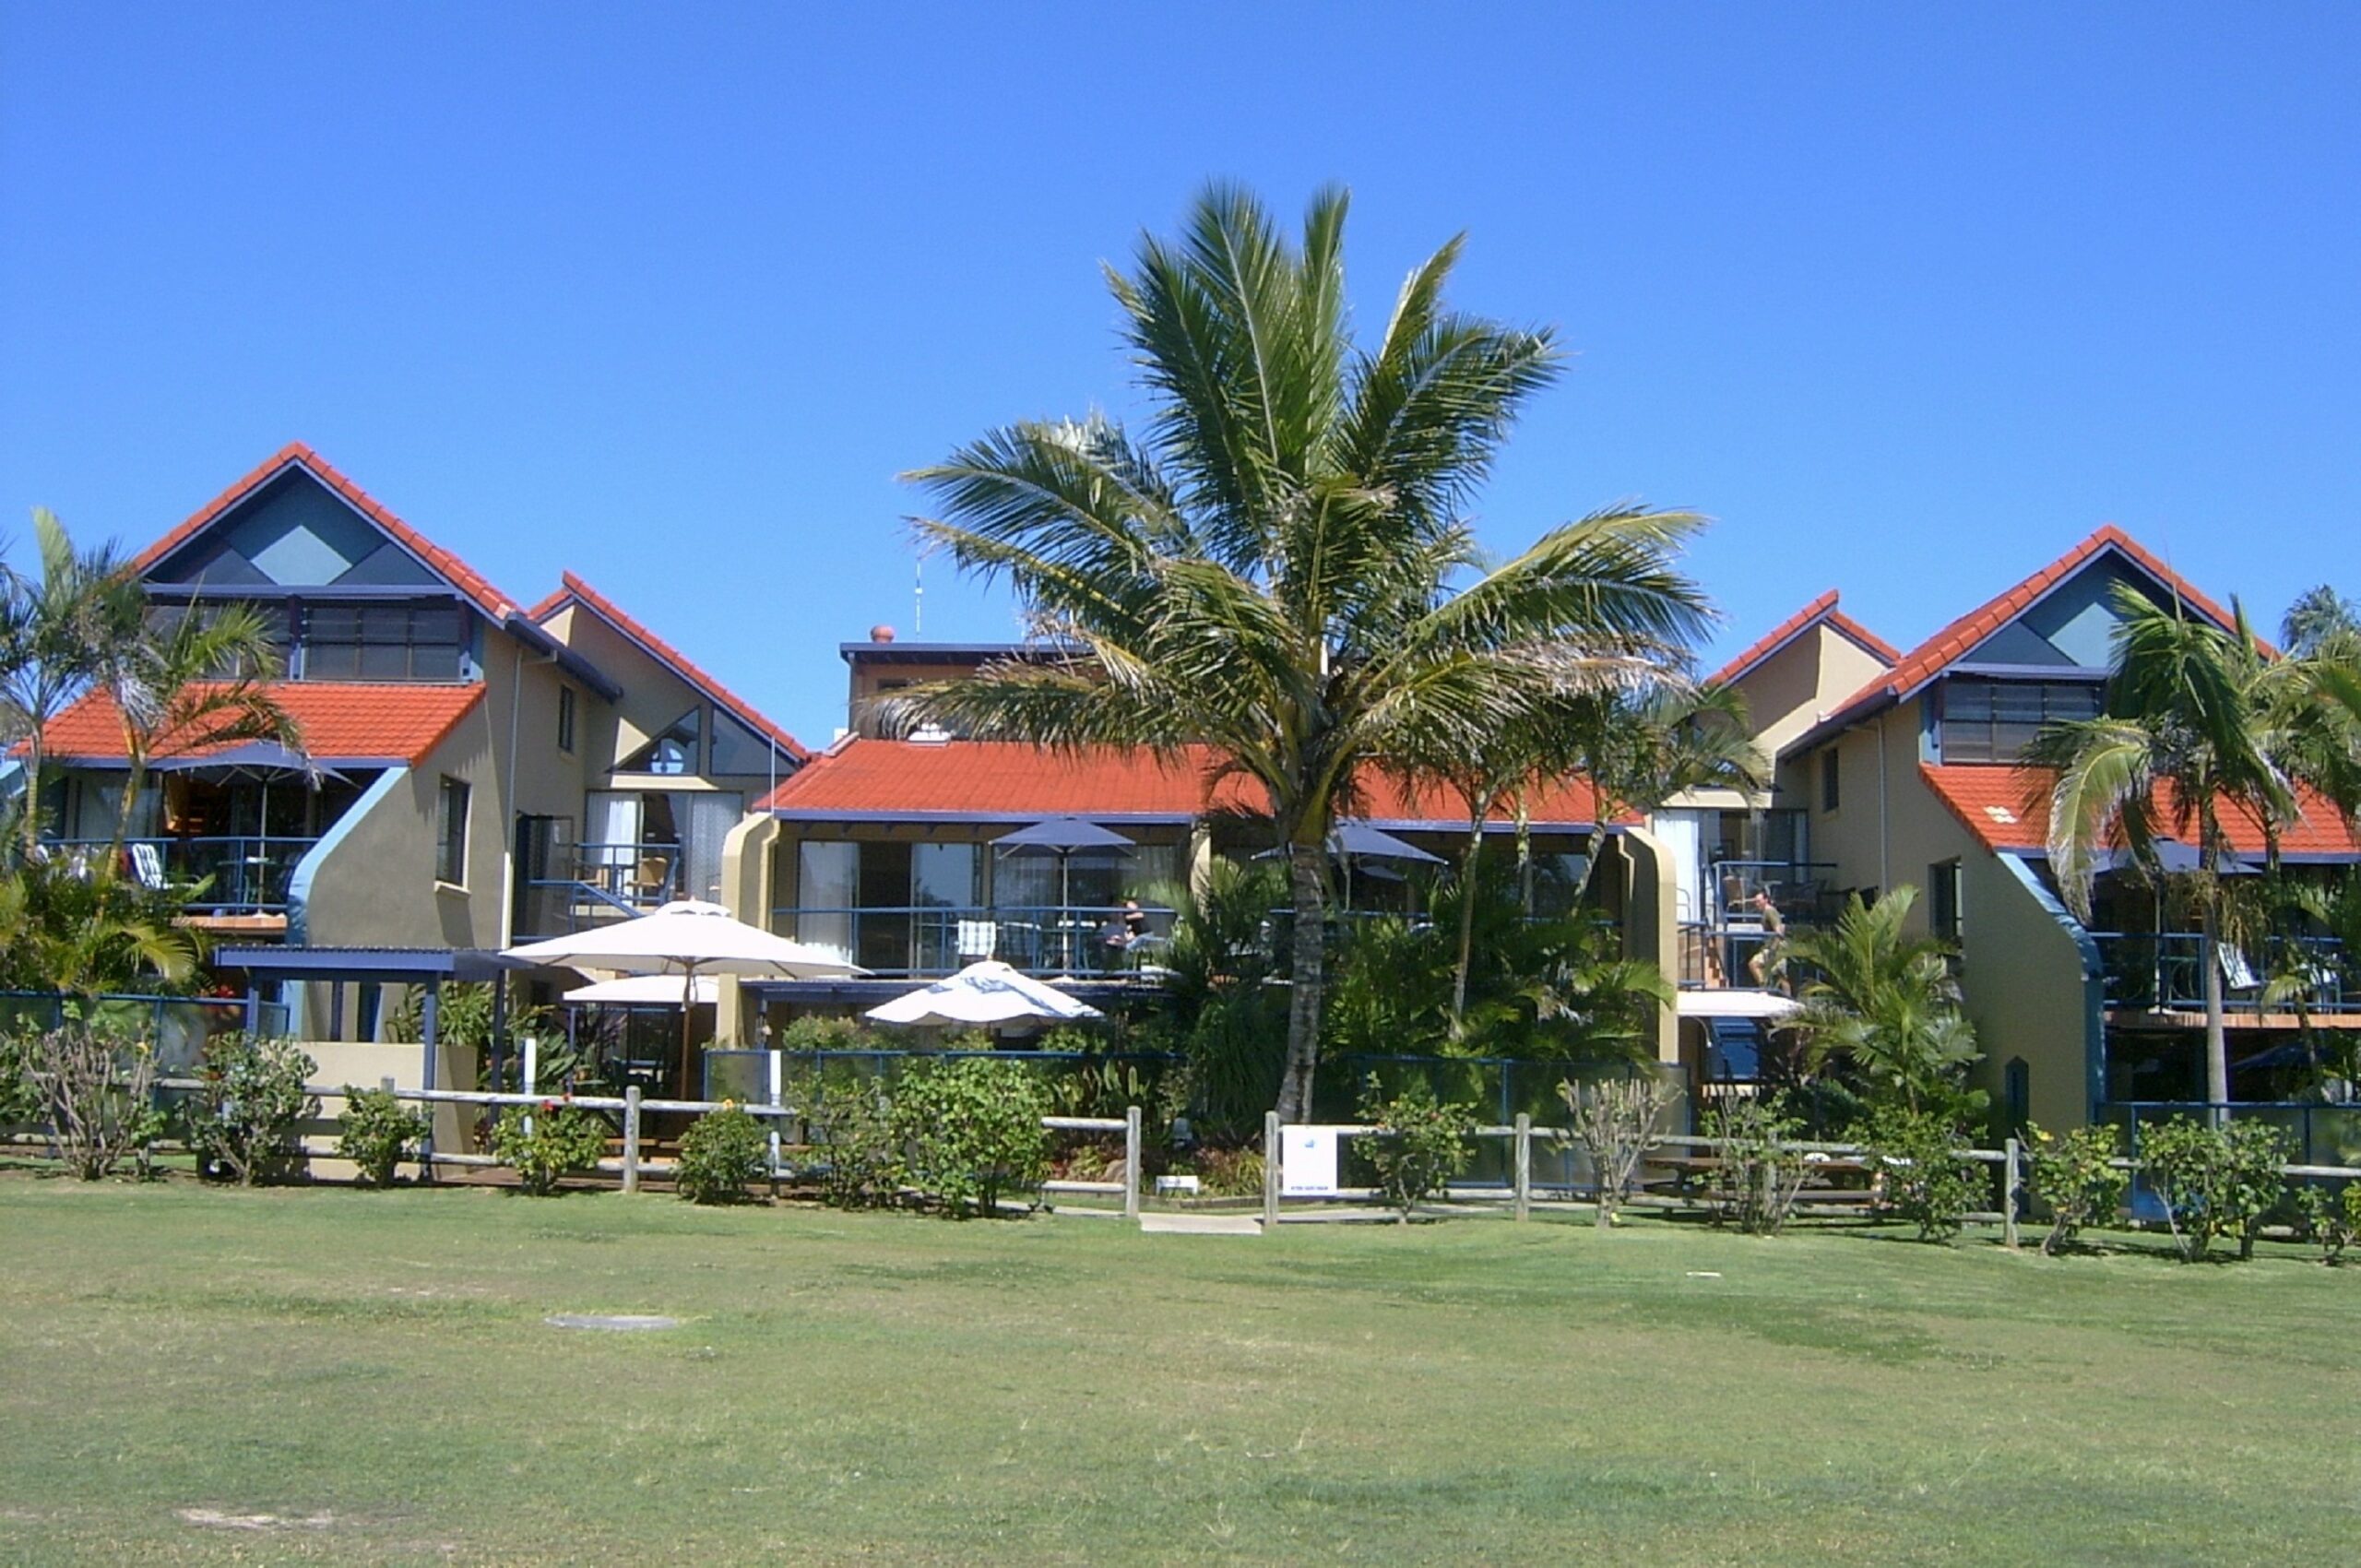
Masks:
[[[1258,812],[1261,791],[1240,777],[1209,782],[1216,753],[1190,746],[1178,760],[1147,751],[1062,756],[1020,741],[850,739],[779,784],[758,810],[784,817],[1093,817],[1188,822],[1209,810]],[[1450,791],[1405,791],[1395,779],[1362,779],[1355,815],[1386,824],[1464,824]],[[1506,819],[1506,817],[1502,817]],[[1532,822],[1596,822],[1584,779],[1554,782],[1528,808]],[[1636,822],[1636,817],[1617,817]]]

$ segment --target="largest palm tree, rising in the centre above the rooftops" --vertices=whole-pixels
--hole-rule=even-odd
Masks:
[[[1296,914],[1289,1119],[1320,1041],[1325,845],[1365,772],[1414,734],[1473,749],[1596,659],[1672,666],[1709,614],[1674,569],[1686,512],[1615,508],[1480,555],[1464,505],[1556,345],[1445,309],[1454,239],[1355,349],[1343,220],[1322,191],[1289,243],[1211,187],[1178,241],[1110,269],[1150,401],[1138,439],[1107,418],[1008,425],[911,475],[942,508],[918,536],[1006,579],[1048,659],[883,704],[1062,751],[1206,746],[1261,786]]]

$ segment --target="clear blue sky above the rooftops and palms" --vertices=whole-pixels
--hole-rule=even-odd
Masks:
[[[288,439],[824,741],[895,472],[1124,409],[1100,260],[1353,189],[1362,319],[1575,352],[1480,527],[1719,517],[1735,647],[2113,520],[2361,593],[2361,7],[0,7],[0,503],[144,543]],[[21,538],[21,522],[12,524]],[[930,638],[1011,631],[928,576]]]

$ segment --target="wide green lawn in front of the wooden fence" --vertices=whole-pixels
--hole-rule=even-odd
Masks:
[[[2361,1268],[2295,1249],[1169,1237],[21,1174],[0,1237],[0,1561],[2328,1563],[2361,1542]],[[543,1325],[562,1311],[685,1327]]]

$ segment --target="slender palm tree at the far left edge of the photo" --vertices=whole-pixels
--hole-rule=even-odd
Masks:
[[[97,685],[146,631],[146,593],[113,548],[76,550],[66,527],[33,508],[40,579],[0,581],[0,718],[26,744],[24,848],[40,843],[50,723]]]

